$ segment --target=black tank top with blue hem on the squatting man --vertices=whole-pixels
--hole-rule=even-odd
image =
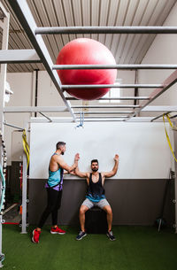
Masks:
[[[102,185],[102,175],[99,173],[98,181],[92,181],[92,174],[89,175],[89,186],[87,196],[93,202],[99,202],[104,196],[104,187]]]

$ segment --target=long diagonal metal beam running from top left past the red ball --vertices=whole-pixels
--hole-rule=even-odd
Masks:
[[[65,95],[61,89],[61,81],[59,80],[57,71],[52,70],[53,62],[50,58],[50,53],[47,50],[45,43],[43,42],[42,36],[35,35],[35,19],[27,5],[26,0],[8,0],[8,3],[11,5],[13,12],[16,14],[17,18],[21,26],[27,33],[27,37],[29,38],[30,42],[33,44],[36,53],[38,54],[39,58],[42,60],[43,66],[45,66],[46,71],[50,75],[50,79],[53,81],[56,89],[58,89],[58,93],[60,94],[62,100],[65,103],[65,106],[68,109],[68,112],[71,113],[73,120],[75,120],[73,110],[71,109],[71,105],[65,100]]]

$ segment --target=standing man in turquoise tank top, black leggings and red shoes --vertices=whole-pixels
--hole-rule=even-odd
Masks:
[[[42,227],[51,213],[52,227],[51,234],[65,235],[65,231],[58,228],[58,209],[61,204],[62,190],[63,190],[63,174],[64,170],[71,173],[76,166],[78,166],[79,154],[75,155],[73,166],[68,166],[62,155],[65,153],[65,143],[58,142],[56,151],[50,158],[49,178],[45,184],[47,190],[47,206],[42,212],[42,217],[39,220],[37,228],[33,231],[32,241],[39,243],[39,236],[41,235]]]

